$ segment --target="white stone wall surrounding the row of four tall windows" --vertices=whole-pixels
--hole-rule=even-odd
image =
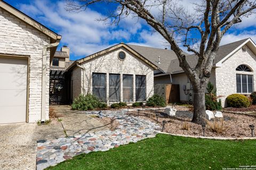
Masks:
[[[125,60],[119,60],[118,53],[125,52]],[[135,102],[135,75],[146,75],[146,98],[154,94],[154,69],[146,62],[140,60],[138,57],[131,54],[125,48],[117,48],[114,51],[108,52],[102,56],[94,57],[89,61],[81,64],[85,67],[85,77],[83,78],[83,71],[81,72],[81,80],[84,79],[84,84],[81,82],[82,88],[84,87],[85,94],[92,93],[92,73],[106,73],[107,78],[107,101],[109,101],[109,74],[121,74],[121,101],[123,101],[123,74],[133,75],[133,101]],[[73,71],[73,75],[75,70]],[[73,82],[73,89],[75,83]],[[73,94],[78,95],[75,90]],[[76,94],[76,95],[75,95]],[[74,100],[74,98],[73,98]],[[109,104],[109,102],[107,102]]]

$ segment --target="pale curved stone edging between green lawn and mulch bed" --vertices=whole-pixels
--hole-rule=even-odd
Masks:
[[[183,135],[183,134],[172,134],[166,132],[159,132],[161,134],[169,134],[177,137],[186,137],[186,138],[198,138],[198,139],[214,139],[214,140],[256,140],[256,137],[245,137],[245,138],[223,138],[223,137],[195,137],[191,135]]]

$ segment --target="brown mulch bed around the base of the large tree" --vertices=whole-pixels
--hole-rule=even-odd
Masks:
[[[162,122],[167,121],[164,126],[164,132],[172,134],[182,134],[182,135],[194,135],[202,136],[203,130],[202,126],[190,122],[193,117],[193,113],[189,111],[189,108],[182,106],[175,106],[177,113],[174,117],[166,116],[164,113],[161,113],[165,117],[158,117],[158,124],[162,127]],[[160,110],[161,111],[161,110]],[[162,110],[163,112],[163,110]],[[141,111],[129,112],[133,116],[139,116],[146,120],[156,123],[156,112],[154,111]],[[256,117],[250,115],[242,114],[233,114],[233,113],[222,113],[223,114],[223,130],[221,133],[216,133],[210,129],[209,125],[206,125],[205,136],[206,137],[233,137],[233,138],[242,138],[242,137],[251,137],[251,130],[249,128],[250,124],[256,125]],[[189,125],[189,130],[183,130],[183,125],[187,122]],[[213,123],[213,121],[211,121]]]

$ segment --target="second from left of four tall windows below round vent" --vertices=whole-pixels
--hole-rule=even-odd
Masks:
[[[120,74],[109,74],[109,102],[120,100]]]

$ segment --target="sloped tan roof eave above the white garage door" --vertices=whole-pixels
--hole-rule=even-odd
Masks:
[[[61,36],[58,35],[58,33],[55,33],[54,31],[50,30],[49,28],[45,27],[43,24],[37,22],[36,20],[30,18],[30,16],[26,15],[25,13],[19,11],[17,8],[13,7],[12,5],[4,2],[3,0],[0,0],[0,7],[3,8],[3,10],[11,13],[12,15],[16,16],[23,22],[29,24],[31,27],[34,27],[35,29],[43,32],[45,35],[49,36],[51,38],[51,43],[55,43],[57,40],[61,39]]]

